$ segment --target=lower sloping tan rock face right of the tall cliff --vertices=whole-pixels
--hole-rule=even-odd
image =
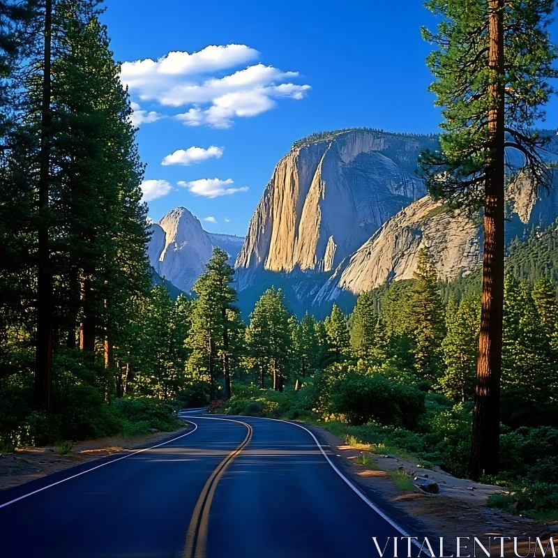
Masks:
[[[480,223],[447,211],[425,196],[391,218],[347,257],[315,297],[316,303],[358,295],[392,280],[410,279],[422,247],[435,260],[438,275],[449,279],[473,271],[482,261]]]

